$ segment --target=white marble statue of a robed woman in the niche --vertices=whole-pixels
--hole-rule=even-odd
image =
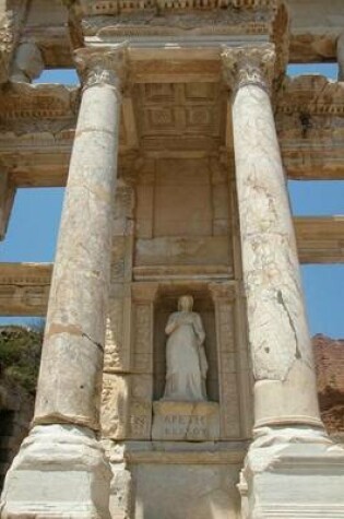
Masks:
[[[163,400],[204,401],[207,362],[205,333],[199,314],[192,311],[193,298],[178,299],[178,311],[168,318],[165,332],[166,386]]]

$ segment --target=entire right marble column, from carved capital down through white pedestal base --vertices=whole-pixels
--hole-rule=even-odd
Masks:
[[[249,343],[253,441],[242,519],[344,517],[344,450],[318,410],[295,233],[270,99],[271,44],[226,49]],[[329,477],[331,476],[331,477]]]

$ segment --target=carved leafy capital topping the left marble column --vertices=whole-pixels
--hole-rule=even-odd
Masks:
[[[116,47],[83,47],[74,51],[76,69],[84,89],[110,85],[120,92],[127,72],[128,45]]]

